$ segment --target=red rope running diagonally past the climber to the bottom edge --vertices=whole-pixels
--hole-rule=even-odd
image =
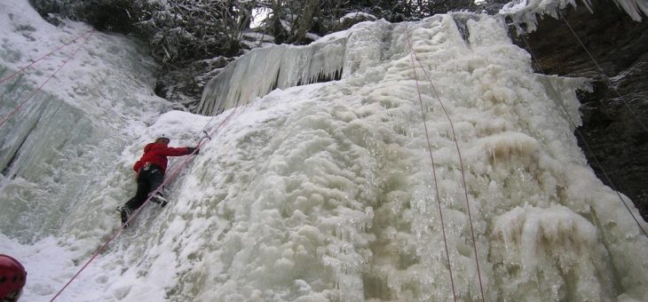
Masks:
[[[238,105],[238,104],[237,104],[237,105]],[[239,107],[234,107],[234,109],[232,110],[232,112],[231,112],[229,115],[227,115],[227,116],[225,117],[225,119],[223,120],[223,122],[221,122],[220,124],[218,124],[218,126],[217,126],[217,128],[216,128],[215,130],[209,132],[209,136],[212,136],[212,135],[216,134],[216,132],[221,128],[221,126],[223,126],[227,121],[229,121],[230,117],[232,117],[232,115],[236,112],[236,110],[237,110],[238,108],[239,108]],[[208,123],[209,123],[209,122],[208,122]],[[206,139],[206,138],[202,138],[202,139],[199,141],[199,143],[198,143],[198,147],[201,147],[201,145],[202,145],[202,143],[204,142],[205,139]],[[198,147],[197,147],[197,148],[198,148]],[[196,148],[196,150],[197,150],[197,148]],[[196,152],[196,151],[194,151],[191,155],[194,155],[195,152]],[[113,240],[115,240],[115,238],[117,238],[117,236],[118,236],[119,234],[122,234],[123,229],[124,229],[126,226],[128,226],[128,224],[130,223],[130,220],[135,219],[135,217],[138,216],[139,212],[142,211],[142,209],[144,208],[144,206],[146,205],[146,203],[148,203],[148,202],[151,200],[151,197],[153,197],[156,193],[158,193],[160,190],[162,190],[162,187],[164,187],[164,185],[166,185],[168,182],[170,182],[170,179],[173,179],[174,176],[178,173],[178,171],[180,171],[180,170],[181,170],[181,169],[186,165],[186,163],[188,163],[189,160],[191,160],[191,159],[193,159],[193,158],[194,158],[194,156],[186,156],[186,157],[183,158],[183,160],[180,161],[178,164],[174,164],[173,166],[170,167],[170,172],[169,172],[169,174],[168,174],[168,177],[165,178],[164,181],[162,181],[162,185],[160,185],[160,187],[157,187],[157,188],[156,188],[152,193],[150,193],[150,194],[148,195],[148,198],[146,198],[146,201],[145,201],[144,203],[142,203],[142,205],[138,208],[138,210],[136,210],[135,212],[133,212],[133,214],[130,215],[130,218],[129,218],[128,220],[126,220],[126,222],[124,222],[124,223],[122,224],[122,227],[120,227],[120,228],[115,232],[115,234],[113,234],[110,238],[108,238],[107,242],[105,242],[104,244],[102,244],[102,245],[99,247],[99,249],[96,250],[96,251],[92,254],[91,258],[88,259],[88,261],[86,261],[85,264],[84,264],[84,265],[83,265],[83,266],[82,266],[82,267],[81,267],[81,268],[76,272],[76,274],[75,274],[74,276],[72,276],[72,278],[71,278],[71,279],[70,279],[70,280],[69,280],[69,281],[68,281],[68,282],[63,286],[63,288],[61,288],[61,289],[56,293],[56,295],[54,295],[54,297],[51,298],[50,302],[51,302],[51,301],[54,301],[56,298],[59,298],[59,295],[63,292],[63,290],[66,290],[66,289],[67,289],[67,286],[69,286],[73,281],[75,281],[76,277],[79,276],[79,274],[81,274],[81,272],[83,272],[83,270],[84,270],[87,266],[89,266],[89,265],[91,264],[91,262],[92,262],[95,258],[97,258],[97,256],[99,256],[99,254],[100,254],[103,250],[106,249],[106,247],[108,246],[108,244],[109,244],[110,242],[112,242]]]

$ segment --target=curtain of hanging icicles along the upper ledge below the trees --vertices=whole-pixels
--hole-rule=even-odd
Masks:
[[[207,83],[198,112],[217,115],[263,97],[274,89],[328,82],[352,76],[393,54],[386,21],[359,24],[306,45],[277,45],[255,49],[228,65]]]

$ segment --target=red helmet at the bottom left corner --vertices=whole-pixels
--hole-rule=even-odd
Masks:
[[[18,260],[0,255],[0,300],[16,301],[27,282],[27,272]]]

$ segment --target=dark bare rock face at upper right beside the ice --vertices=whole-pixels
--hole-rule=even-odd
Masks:
[[[574,134],[598,178],[648,221],[648,20],[631,20],[611,0],[592,11],[569,7],[561,12],[566,22],[545,16],[528,44],[517,43],[530,46],[537,72],[594,80],[594,91],[580,95],[583,125]]]

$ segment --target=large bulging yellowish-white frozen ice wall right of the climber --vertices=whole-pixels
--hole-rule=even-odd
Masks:
[[[406,31],[456,139],[412,68]],[[648,240],[589,169],[566,116],[579,123],[585,79],[534,74],[488,16],[366,23],[344,35],[344,62],[362,70],[217,115],[212,124],[232,119],[169,188],[173,204],[138,219],[111,249],[117,259],[76,285],[105,290],[83,298],[452,301],[454,282],[457,300],[478,301],[477,258],[486,301],[648,298]],[[366,43],[350,47],[353,37]],[[154,127],[208,123],[179,115]]]

